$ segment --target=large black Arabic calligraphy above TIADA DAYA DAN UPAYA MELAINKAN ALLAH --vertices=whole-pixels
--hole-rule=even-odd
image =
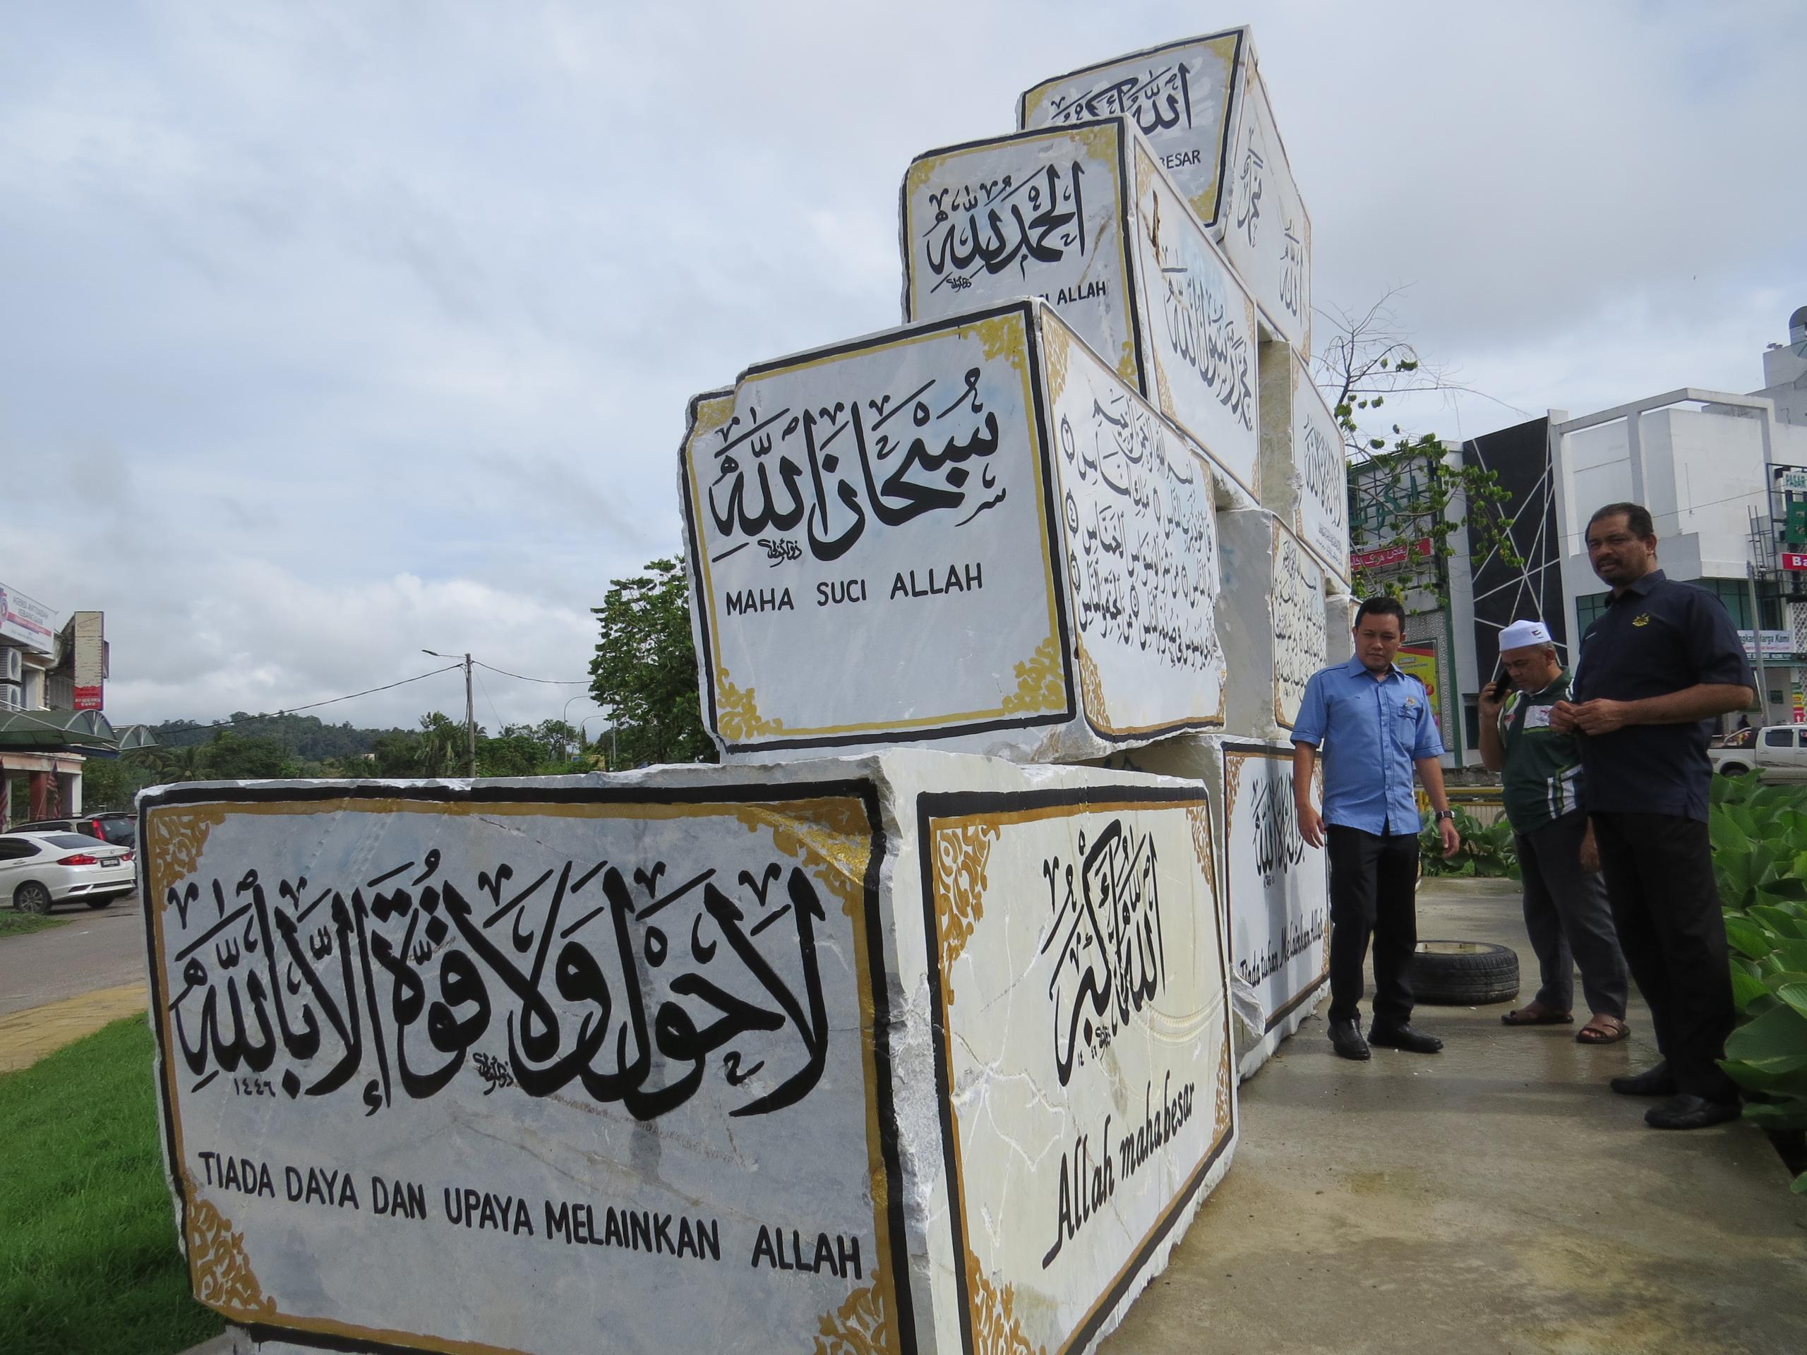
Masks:
[[[790,858],[681,883],[672,865],[517,860],[472,882],[434,849],[356,885],[246,869],[172,887],[172,1057],[193,1091],[280,1070],[287,1097],[365,1115],[466,1064],[484,1095],[576,1086],[638,1120],[705,1077],[735,1117],[797,1104],[829,1042],[815,882]]]

